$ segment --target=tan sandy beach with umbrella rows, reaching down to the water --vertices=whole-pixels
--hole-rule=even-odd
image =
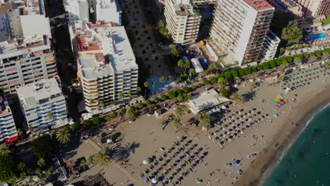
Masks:
[[[319,64],[310,68],[316,66]],[[185,125],[194,117],[192,113],[182,117],[184,127],[178,131],[172,125],[167,125],[164,130],[161,128],[166,116],[172,111],[161,118],[140,116],[133,123],[121,123],[116,128],[116,132],[121,132],[123,136],[121,145],[138,144],[130,152],[128,161],[119,166],[120,162],[112,162],[104,167],[92,166],[72,182],[101,171],[114,185],[149,185],[152,179],[149,182],[146,180],[155,172],[157,176],[164,177],[164,180],[158,180],[157,185],[258,185],[264,171],[276,163],[281,151],[299,134],[306,118],[320,104],[330,100],[330,95],[326,94],[330,90],[330,77],[319,77],[309,82],[288,94],[283,92],[281,84],[269,85],[264,82],[255,89],[243,86],[243,83],[239,85],[238,93],[250,94],[250,101],[231,104],[227,109],[228,113],[224,116],[212,116],[212,120],[223,122],[221,126],[231,125],[231,121],[221,118],[229,118],[232,113],[241,111],[242,114],[248,113],[246,119],[253,116],[253,125],[249,119],[243,126],[250,127],[226,142],[223,148],[214,142],[215,136],[209,137],[220,125],[215,125],[208,131],[202,131],[200,126]],[[277,108],[271,100],[280,94],[288,103]],[[259,122],[255,122],[259,118]],[[243,120],[238,119],[236,123],[242,123]],[[182,136],[187,139],[181,142]],[[84,151],[86,148],[92,150]],[[71,152],[71,158],[87,157],[94,151],[97,149],[89,142],[82,141],[79,148]],[[185,154],[187,151],[188,154]],[[150,158],[157,160],[157,164],[155,161],[143,162]]]

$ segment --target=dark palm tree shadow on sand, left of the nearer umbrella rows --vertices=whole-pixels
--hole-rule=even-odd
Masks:
[[[115,149],[113,149],[111,151],[111,157],[116,162],[127,161],[127,159],[130,157],[130,154],[134,154],[135,149],[139,147],[140,147],[140,143],[138,142],[127,143],[124,146],[116,147]]]

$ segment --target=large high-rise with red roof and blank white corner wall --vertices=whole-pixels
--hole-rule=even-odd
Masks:
[[[259,61],[274,7],[266,0],[221,0],[210,35],[238,65]]]

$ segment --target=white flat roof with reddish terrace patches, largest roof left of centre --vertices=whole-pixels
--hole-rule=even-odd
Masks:
[[[82,32],[85,34],[76,37],[82,77],[97,79],[126,70],[138,70],[124,27],[90,24]]]

